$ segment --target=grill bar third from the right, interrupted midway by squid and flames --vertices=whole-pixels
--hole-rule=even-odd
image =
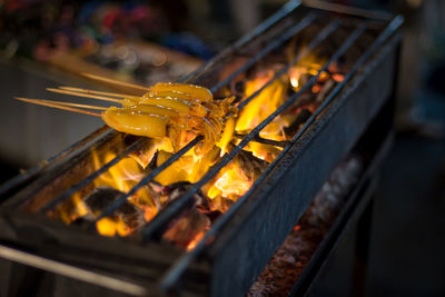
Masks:
[[[268,85],[270,85],[274,80],[276,80],[276,79],[278,79],[283,73],[285,73],[293,65],[295,65],[299,59],[301,59],[305,55],[307,55],[312,49],[314,49],[316,46],[318,46],[323,40],[325,40],[332,32],[334,32],[334,30],[336,29],[336,28],[338,28],[338,26],[340,24],[340,21],[338,21],[338,20],[336,20],[336,21],[333,21],[330,24],[328,24],[324,30],[322,30],[320,32],[319,32],[319,34],[317,34],[317,37],[315,37],[315,39],[309,43],[309,46],[308,46],[308,48],[307,48],[307,51],[304,51],[304,52],[301,52],[301,55],[297,55],[295,58],[294,58],[294,60],[290,62],[290,63],[288,63],[285,68],[283,68],[280,71],[278,71],[278,75],[275,75],[270,80],[268,80],[267,81],[267,83],[263,87],[263,88],[260,88],[258,91],[256,91],[255,93],[253,93],[249,98],[247,98],[246,100],[253,100],[255,97],[257,97],[259,93],[260,93],[260,91],[261,90],[264,90],[264,88],[266,88]],[[289,39],[289,38],[291,38],[293,36],[289,36],[289,37],[287,37],[287,39]],[[283,43],[283,42],[280,42],[280,43]],[[255,58],[255,57],[254,57]],[[245,102],[245,101],[243,101],[243,102]],[[243,103],[241,102],[241,103]],[[243,109],[246,105],[239,105],[238,106],[238,108],[239,109]],[[281,112],[281,111],[280,111]],[[264,127],[263,127],[264,128]],[[261,129],[263,129],[261,128]],[[250,140],[254,140],[254,138],[258,138],[259,136],[258,135],[254,135],[253,136],[253,138],[250,139]],[[280,142],[284,142],[284,141],[280,141]],[[277,143],[278,146],[283,146],[283,143]],[[191,148],[191,147],[190,147]],[[188,149],[187,150],[184,150],[184,152],[182,152],[182,150],[181,151],[178,151],[178,152],[176,152],[172,157],[176,157],[176,160],[177,159],[179,159],[184,154],[186,154],[188,151]],[[178,157],[177,157],[177,155],[179,155]],[[171,158],[172,158],[171,157]],[[233,155],[233,157],[230,157],[230,159],[231,158],[234,158],[235,157],[235,155]],[[164,164],[162,164],[164,165]],[[167,167],[165,167],[165,168],[167,168]],[[222,167],[221,167],[222,168]],[[164,169],[164,168],[162,168]],[[161,169],[161,170],[162,170]],[[128,197],[130,197],[131,195],[134,195],[134,194],[136,194],[137,192],[137,190],[139,190],[142,186],[145,186],[145,185],[147,185],[148,182],[150,182],[161,170],[157,170],[156,171],[156,174],[155,172],[151,172],[149,176],[147,176],[146,178],[144,178],[142,180],[140,180],[129,192],[127,192],[127,195],[122,195],[121,197],[119,197],[118,199],[116,199],[110,206],[108,206],[103,211],[102,211],[102,214],[98,217],[98,219],[101,219],[101,218],[103,218],[103,217],[106,217],[106,216],[109,216],[109,215],[111,215],[116,209],[118,209],[126,200],[127,200],[127,198]],[[211,169],[210,169],[211,170]],[[220,170],[220,168],[218,169],[218,170]],[[190,196],[191,197],[191,196]],[[185,205],[187,205],[187,202],[185,204]],[[184,205],[184,206],[185,206]],[[184,207],[182,206],[182,207]],[[160,216],[161,214],[164,214],[164,211],[169,211],[169,210],[167,210],[167,209],[170,209],[170,207],[168,207],[168,208],[165,208],[165,209],[162,209],[162,210],[160,210],[160,212],[154,218],[154,220],[151,220],[151,222],[150,222],[150,226],[151,226],[151,224],[155,224],[154,226],[156,226],[156,222],[155,222],[155,220],[156,220],[156,218],[158,217],[158,216]],[[168,217],[170,218],[171,216],[174,216],[174,215],[176,215],[177,212],[176,211],[172,211],[171,212],[172,215],[168,215]],[[98,220],[97,219],[97,220]],[[166,218],[167,219],[167,218]],[[97,222],[97,220],[95,220],[93,222]]]

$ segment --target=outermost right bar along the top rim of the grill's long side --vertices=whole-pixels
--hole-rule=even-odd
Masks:
[[[345,76],[345,79],[336,86],[333,92],[325,99],[323,105],[316,110],[316,112],[308,119],[304,127],[298,131],[298,133],[293,138],[291,142],[296,142],[298,138],[307,130],[307,128],[315,121],[317,116],[324,110],[324,108],[335,98],[335,96],[343,89],[343,87],[353,78],[353,76],[359,70],[359,68],[372,57],[375,50],[383,44],[403,23],[403,17],[395,17],[390,23],[385,28],[385,30],[377,37],[374,43],[368,48],[368,50],[357,60],[357,62],[352,67],[348,73]],[[359,30],[358,28],[357,30]],[[357,31],[356,30],[356,31]],[[353,32],[354,34],[354,32]],[[346,42],[345,42],[346,43]],[[181,256],[171,268],[161,278],[161,288],[165,291],[168,291],[180,278],[181,274],[185,271],[187,266],[204,250],[206,244],[211,240],[211,238],[216,235],[216,232],[225,226],[228,220],[235,215],[235,212],[241,207],[241,205],[246,201],[247,197],[254,191],[257,185],[259,185],[263,179],[270,172],[271,168],[275,164],[283,158],[283,156],[290,149],[290,145],[284,148],[281,154],[274,160],[274,162],[265,170],[265,172],[254,182],[250,189],[238,199],[236,204],[234,204],[227,212],[217,219],[212,227],[202,236],[196,247]]]

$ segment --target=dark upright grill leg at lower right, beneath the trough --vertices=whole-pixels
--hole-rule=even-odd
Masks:
[[[352,296],[364,296],[368,270],[370,226],[373,219],[373,197],[357,224],[353,267]]]

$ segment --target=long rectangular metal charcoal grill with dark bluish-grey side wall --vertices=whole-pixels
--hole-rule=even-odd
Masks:
[[[356,198],[342,212],[344,224],[336,227],[344,228],[346,218],[362,214],[368,205],[369,200],[362,201],[359,197],[364,196],[363,189],[372,188],[369,180],[390,143],[402,23],[399,16],[320,1],[289,1],[253,32],[184,78],[182,82],[205,86],[218,98],[228,92],[237,95],[253,72],[273,70],[251,95],[237,95],[236,103],[243,110],[306,56],[316,51],[327,57],[319,69],[305,78],[303,87],[289,91],[283,105],[251,130],[237,133],[234,147],[197,181],[170,186],[169,190],[176,190],[175,199],[130,236],[101,236],[97,224],[125,212],[128,199],[152,185],[202,137],[150,168],[126,192],[92,185],[123,158],[139,156],[150,140],[108,127],[2,185],[0,192],[6,198],[0,212],[0,269],[6,276],[4,294],[245,294],[333,168],[353,149],[360,150],[368,154],[369,161],[354,191]],[[305,47],[288,58],[293,43]],[[299,113],[289,126],[294,129],[290,137],[274,140],[260,135],[274,119],[307,100],[301,99],[305,93],[338,65],[346,69],[342,79],[332,81],[318,99],[314,97],[317,108]],[[278,154],[265,164],[246,152],[253,142],[274,147]],[[95,156],[109,151],[113,157],[96,168]],[[194,245],[190,240],[185,246],[178,245],[179,239],[166,241],[166,234],[178,221],[186,218],[191,224],[190,209],[204,199],[202,187],[236,158],[247,159],[257,172],[248,190],[225,212],[217,214],[208,228],[197,225],[204,231]],[[83,199],[111,198],[98,207],[96,217],[65,224],[58,209],[72,204],[76,194]],[[333,231],[328,239],[338,236]],[[318,254],[318,264],[314,261],[308,267],[294,293],[306,291],[315,277],[314,269],[322,267],[323,255]]]

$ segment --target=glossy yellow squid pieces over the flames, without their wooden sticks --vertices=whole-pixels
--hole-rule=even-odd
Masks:
[[[159,83],[158,83],[159,85]],[[233,135],[231,121],[228,118],[236,115],[237,110],[230,103],[233,97],[214,100],[205,88],[191,85],[162,83],[162,88],[155,85],[154,91],[142,97],[130,97],[122,100],[122,107],[110,107],[101,113],[103,121],[111,128],[137,136],[150,138],[168,137],[174,148],[179,147],[182,132],[204,136],[204,141],[197,146],[196,152],[205,154],[214,145],[219,143],[221,133]],[[167,86],[175,86],[166,90]],[[181,87],[181,88],[179,88]],[[179,90],[194,90],[196,93],[186,93]],[[205,89],[206,90],[206,89]],[[226,117],[226,115],[230,116]],[[231,131],[230,131],[231,130]],[[221,148],[226,142],[219,143]]]

